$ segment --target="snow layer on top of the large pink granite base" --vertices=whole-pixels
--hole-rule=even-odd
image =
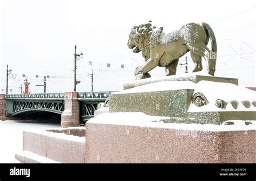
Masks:
[[[251,124],[246,125],[246,121],[231,120],[233,125],[217,124],[185,124],[185,123],[164,123],[161,120],[170,119],[164,116],[150,116],[144,113],[103,113],[93,117],[87,123],[116,124],[126,126],[183,129],[183,130],[203,130],[203,131],[234,131],[234,130],[255,130],[256,121],[248,121]]]

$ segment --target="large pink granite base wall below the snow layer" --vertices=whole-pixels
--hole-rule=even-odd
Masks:
[[[255,130],[86,123],[85,163],[255,163]]]

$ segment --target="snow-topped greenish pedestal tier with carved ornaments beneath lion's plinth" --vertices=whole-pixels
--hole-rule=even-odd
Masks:
[[[237,96],[239,93],[243,98]],[[255,98],[254,93],[232,83],[161,81],[112,93],[109,112],[142,112],[147,115],[169,116],[163,120],[169,123],[221,124],[227,120],[255,120],[255,107],[242,105],[244,100],[251,104]],[[216,106],[217,100],[227,106]],[[238,102],[238,108],[232,107],[228,100]]]

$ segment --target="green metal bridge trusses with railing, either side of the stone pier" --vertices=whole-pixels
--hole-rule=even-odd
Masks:
[[[111,92],[80,92],[80,120],[93,117],[97,105],[104,102]],[[21,113],[45,111],[62,114],[64,111],[64,93],[8,94],[6,96],[6,116]]]

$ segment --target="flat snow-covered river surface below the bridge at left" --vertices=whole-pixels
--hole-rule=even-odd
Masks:
[[[17,159],[15,159],[15,154],[22,151],[23,130],[51,128],[60,128],[60,121],[0,120],[0,163],[19,163]]]

